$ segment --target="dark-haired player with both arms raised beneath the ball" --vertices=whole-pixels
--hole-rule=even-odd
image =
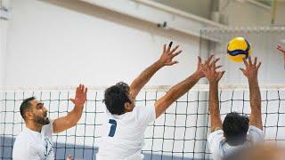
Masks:
[[[240,68],[244,76],[248,78],[249,97],[251,113],[247,116],[240,116],[236,112],[229,113],[224,118],[222,124],[219,101],[218,101],[218,82],[224,75],[224,71],[216,71],[214,65],[203,66],[203,73],[209,82],[209,112],[211,118],[211,133],[208,135],[208,148],[213,154],[214,159],[222,159],[231,155],[234,151],[262,142],[264,132],[261,117],[261,96],[257,81],[257,72],[261,63],[257,64],[248,57],[243,59],[246,68]]]

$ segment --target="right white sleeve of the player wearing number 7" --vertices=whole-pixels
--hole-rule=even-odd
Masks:
[[[156,113],[155,108],[152,106],[141,106],[136,108],[136,116],[139,123],[143,125],[151,124],[151,122],[155,121]]]

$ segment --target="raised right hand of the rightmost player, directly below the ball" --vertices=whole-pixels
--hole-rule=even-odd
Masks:
[[[255,60],[252,63],[250,56],[248,57],[248,60],[246,60],[246,58],[243,58],[242,60],[243,60],[244,65],[246,66],[246,68],[240,68],[243,75],[247,76],[248,79],[257,78],[257,72],[258,72],[258,68],[261,65],[261,62],[258,62],[257,64],[257,58],[255,57]]]

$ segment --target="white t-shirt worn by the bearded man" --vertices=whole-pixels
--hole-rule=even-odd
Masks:
[[[13,149],[13,160],[54,160],[53,121],[43,126],[41,132],[27,127],[17,136]]]

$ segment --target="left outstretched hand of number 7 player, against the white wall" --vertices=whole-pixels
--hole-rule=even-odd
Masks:
[[[170,44],[164,44],[163,46],[163,52],[160,56],[159,62],[162,66],[172,66],[176,63],[178,63],[177,60],[173,60],[178,54],[180,54],[182,51],[176,52],[179,45],[176,45],[175,48],[171,49],[172,42]]]

